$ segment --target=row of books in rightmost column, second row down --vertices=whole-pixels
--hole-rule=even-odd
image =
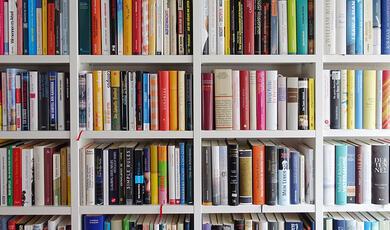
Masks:
[[[331,129],[390,129],[389,70],[324,70],[324,124]]]

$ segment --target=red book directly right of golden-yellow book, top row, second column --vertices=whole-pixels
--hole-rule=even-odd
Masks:
[[[142,53],[142,0],[133,0],[133,54]]]

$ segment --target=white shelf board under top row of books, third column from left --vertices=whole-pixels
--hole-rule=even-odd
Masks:
[[[315,63],[316,55],[203,55],[203,64]]]

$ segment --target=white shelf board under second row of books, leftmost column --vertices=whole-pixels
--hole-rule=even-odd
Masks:
[[[0,139],[69,139],[70,131],[0,131]]]

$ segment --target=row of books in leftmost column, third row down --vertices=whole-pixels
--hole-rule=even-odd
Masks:
[[[70,205],[70,148],[65,142],[0,145],[0,205]]]

